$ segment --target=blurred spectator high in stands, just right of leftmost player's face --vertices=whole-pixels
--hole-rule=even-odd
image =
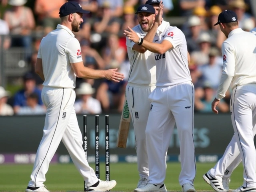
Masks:
[[[111,5],[109,2],[104,2],[103,4],[100,4],[93,25],[93,29],[96,33],[102,34],[103,32],[108,32],[118,34],[118,32],[120,31],[120,20],[112,16],[112,10],[110,6]]]

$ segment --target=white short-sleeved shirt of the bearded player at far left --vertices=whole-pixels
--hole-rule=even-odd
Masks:
[[[58,25],[40,43],[38,58],[42,58],[44,86],[75,88],[76,74],[70,63],[82,61],[79,41],[66,26]]]

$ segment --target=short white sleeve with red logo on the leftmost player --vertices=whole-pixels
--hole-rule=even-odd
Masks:
[[[78,63],[83,61],[82,53],[81,53],[81,46],[79,41],[76,38],[72,38],[67,46],[66,52],[68,53],[68,58],[70,63]]]

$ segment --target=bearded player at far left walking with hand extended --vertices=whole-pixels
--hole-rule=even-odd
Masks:
[[[82,148],[82,133],[78,126],[74,101],[76,76],[80,78],[107,78],[119,82],[124,76],[117,69],[93,70],[84,67],[81,48],[74,32],[88,13],[76,2],[60,7],[61,24],[41,41],[36,61],[36,73],[44,80],[42,100],[47,108],[44,134],[36,153],[34,168],[26,192],[48,192],[44,186],[45,174],[60,141],[66,146],[72,161],[86,181],[90,191],[106,191],[116,181],[101,181],[89,166]]]

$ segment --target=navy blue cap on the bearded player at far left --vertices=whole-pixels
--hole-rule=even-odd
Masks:
[[[66,2],[60,7],[60,17],[67,16],[72,13],[90,13],[90,11],[83,10],[82,6],[75,1]]]

